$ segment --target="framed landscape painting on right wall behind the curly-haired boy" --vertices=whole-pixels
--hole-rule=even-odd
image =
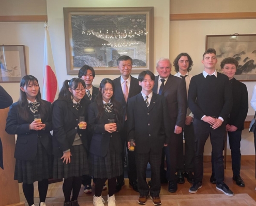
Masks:
[[[240,81],[256,81],[256,35],[209,35],[206,36],[206,49],[214,48],[220,62],[227,57],[238,61],[235,78]]]

